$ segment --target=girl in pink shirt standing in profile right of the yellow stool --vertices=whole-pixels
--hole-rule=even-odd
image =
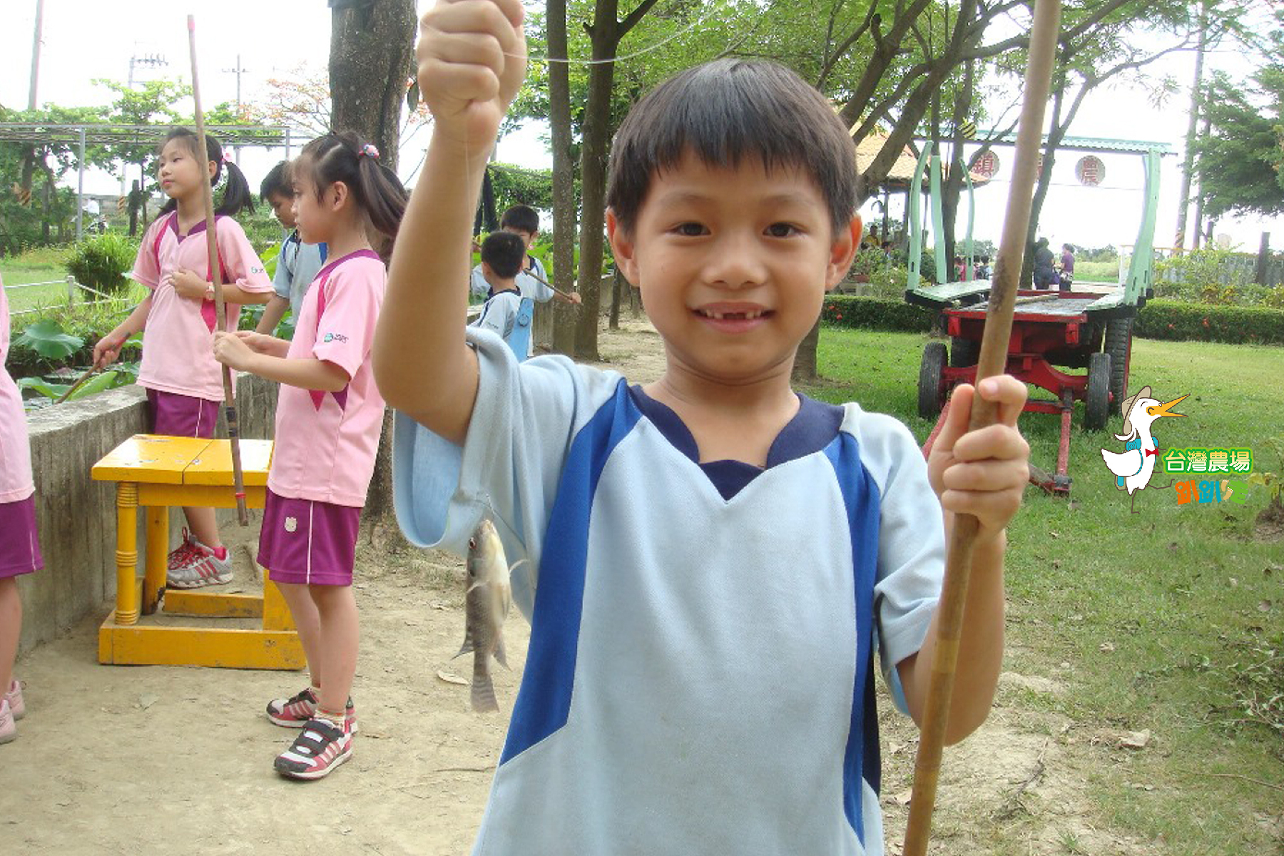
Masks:
[[[386,271],[367,226],[394,237],[406,208],[401,182],[377,160],[352,133],[304,146],[291,169],[294,217],[304,243],[327,244],[330,262],[303,298],[294,339],[214,336],[220,362],[281,384],[258,562],[290,607],[312,678],[267,706],[272,723],[302,729],[275,762],[294,779],[347,761],[357,730],[352,571],[384,418],[370,352]]]

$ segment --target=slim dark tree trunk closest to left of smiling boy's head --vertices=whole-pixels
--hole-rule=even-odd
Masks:
[[[584,217],[579,225],[579,295],[583,299],[575,323],[575,355],[598,358],[597,325],[602,280],[602,213],[606,209],[606,158],[611,133],[611,86],[619,45],[616,0],[598,0],[588,28],[593,60],[588,69],[588,99],[584,104],[579,178]],[[606,60],[606,62],[603,62]]]

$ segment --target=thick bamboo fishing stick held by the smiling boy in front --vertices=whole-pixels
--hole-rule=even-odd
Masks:
[[[1044,107],[1052,87],[1052,65],[1057,53],[1061,24],[1061,0],[1036,0],[1035,19],[1030,30],[1030,59],[1026,64],[1026,92],[1017,132],[1016,166],[1008,187],[1008,210],[1003,221],[999,257],[994,266],[994,285],[981,338],[981,358],[976,380],[999,375],[1008,363],[1008,338],[1012,332],[1013,299],[1021,259],[1030,228],[1031,193],[1035,163],[1043,141]],[[998,406],[980,395],[972,397],[969,430],[993,425]],[[932,829],[936,784],[941,771],[941,748],[945,746],[945,724],[954,689],[958,665],[959,635],[963,626],[963,604],[967,598],[968,574],[972,570],[972,548],[980,522],[972,515],[955,515],[945,557],[945,583],[937,607],[936,649],[923,711],[923,728],[914,760],[914,787],[909,798],[909,821],[905,828],[904,856],[924,856]]]

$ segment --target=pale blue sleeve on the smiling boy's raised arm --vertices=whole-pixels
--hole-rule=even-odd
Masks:
[[[561,355],[519,363],[489,330],[469,327],[466,336],[480,376],[464,445],[395,415],[397,520],[412,543],[466,556],[473,530],[490,517],[508,562],[526,560],[514,569],[512,597],[529,616],[571,441],[623,380]]]

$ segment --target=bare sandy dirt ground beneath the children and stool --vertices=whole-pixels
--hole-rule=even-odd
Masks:
[[[611,367],[647,381],[663,370],[659,339],[638,323],[603,334]],[[253,544],[257,530],[226,530]],[[232,589],[253,588],[249,553]],[[356,583],[361,657],[353,697],[361,720],[353,758],[329,779],[294,783],[272,771],[293,737],[265,703],[293,694],[295,672],[112,667],[96,662],[109,610],[23,656],[27,717],[0,747],[0,852],[58,853],[462,853],[473,843],[525,662],[529,628],[507,625],[512,671],[499,670],[501,715],[467,707],[462,563],[363,539]],[[986,725],[950,749],[932,853],[990,852],[998,826],[1025,825],[1030,853],[1159,853],[1093,829],[1088,771],[1111,764],[1097,735],[1064,717],[1022,708],[1028,693],[1059,693],[1058,675],[1005,672]],[[915,751],[912,723],[882,705],[889,852],[899,853]],[[1117,761],[1117,758],[1116,758]],[[998,775],[995,771],[999,771]],[[1025,851],[1022,851],[1025,852]]]

